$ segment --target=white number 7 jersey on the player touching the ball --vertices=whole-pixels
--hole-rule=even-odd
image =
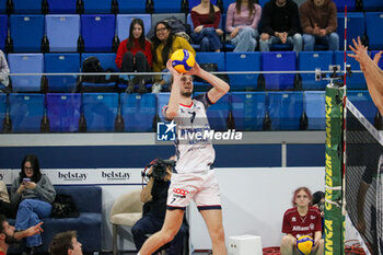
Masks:
[[[212,148],[210,125],[206,109],[211,105],[207,93],[192,100],[192,105],[179,104],[176,124],[176,165],[177,173],[194,173],[210,170],[216,159]],[[167,105],[163,108],[166,119]]]

